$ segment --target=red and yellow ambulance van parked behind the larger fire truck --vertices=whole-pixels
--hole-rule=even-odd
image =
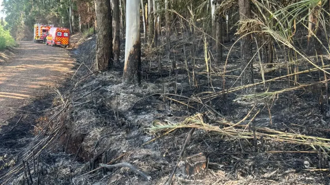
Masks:
[[[70,43],[69,39],[70,30],[68,28],[52,27],[49,30],[46,45],[51,44],[51,46],[62,45],[64,47],[68,47]]]

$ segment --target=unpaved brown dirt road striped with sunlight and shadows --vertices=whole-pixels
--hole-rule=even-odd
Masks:
[[[59,87],[75,66],[65,48],[32,41],[19,45],[16,57],[0,66],[0,127],[20,107]]]

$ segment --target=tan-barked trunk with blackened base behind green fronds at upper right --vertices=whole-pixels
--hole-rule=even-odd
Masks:
[[[321,43],[315,38],[320,39],[322,33],[320,29],[320,23],[318,20],[319,14],[321,9],[321,1],[319,1],[318,5],[313,9],[310,9],[309,17],[308,17],[308,43],[306,54],[307,55],[320,55],[322,54],[322,45]]]

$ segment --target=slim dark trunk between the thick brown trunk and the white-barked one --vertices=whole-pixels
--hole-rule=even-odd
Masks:
[[[113,20],[113,52],[114,66],[119,66],[120,55],[120,25],[119,25],[119,0],[112,0],[112,20]]]

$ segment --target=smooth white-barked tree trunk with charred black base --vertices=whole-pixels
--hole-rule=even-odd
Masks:
[[[140,0],[127,0],[124,84],[141,83]]]

